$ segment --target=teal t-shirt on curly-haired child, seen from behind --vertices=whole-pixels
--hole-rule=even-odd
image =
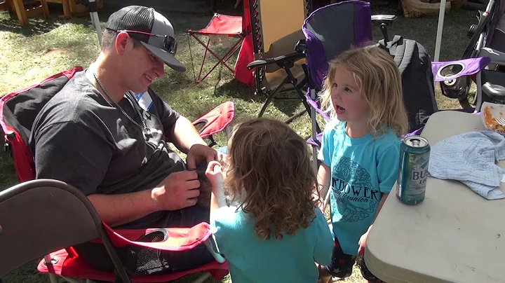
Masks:
[[[233,282],[316,282],[314,261],[330,264],[334,238],[321,210],[307,228],[281,240],[260,240],[254,221],[237,207],[221,207],[212,216],[213,234],[226,258]]]

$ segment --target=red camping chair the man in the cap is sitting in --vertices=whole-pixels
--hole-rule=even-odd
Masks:
[[[36,83],[28,88],[11,92],[0,98],[0,125],[4,131],[6,140],[5,149],[13,157],[15,170],[20,182],[33,180],[35,177],[34,160],[29,149],[28,139],[37,113],[39,113],[43,105],[46,104],[51,97],[63,88],[76,72],[82,70],[82,67],[74,67],[71,70],[62,71],[44,79],[41,83]],[[212,143],[215,144],[213,134],[221,132],[222,130],[227,132],[227,126],[230,125],[233,118],[234,104],[233,102],[225,102],[201,118],[198,118],[198,120],[194,122],[194,125],[203,125],[199,130],[201,137],[208,137]],[[103,226],[110,240],[112,240],[112,243],[116,247],[133,245],[153,247],[154,249],[168,251],[180,251],[191,249],[201,243],[205,243],[209,248],[213,244],[210,240],[212,237],[210,237],[210,227],[208,223],[200,223],[192,228],[156,229],[164,235],[168,235],[168,239],[155,243],[135,242],[139,237],[152,232],[152,229],[112,230],[112,228],[109,228],[105,224],[103,224]],[[49,272],[64,277],[80,277],[96,280],[112,279],[112,281],[114,281],[115,275],[113,272],[103,272],[90,268],[89,265],[79,258],[79,255],[76,254],[71,247],[67,248],[63,246],[58,247],[58,249],[60,250],[50,254],[53,264],[46,264],[46,261],[42,260],[39,264],[39,271]],[[213,255],[219,262],[213,261],[193,270],[186,270],[169,275],[131,277],[131,281],[167,282],[189,273],[203,270],[210,272],[210,275],[216,279],[221,279],[228,274],[227,264],[224,263],[219,254],[213,253]],[[0,277],[1,276],[3,275],[0,275]]]

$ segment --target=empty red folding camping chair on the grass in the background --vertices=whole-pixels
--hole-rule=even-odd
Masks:
[[[227,69],[229,69],[232,73],[235,74],[236,72],[234,71],[234,68],[229,67],[229,65],[227,64],[227,60],[229,60],[233,55],[235,55],[235,53],[238,52],[238,50],[240,50],[245,37],[248,36],[250,32],[251,32],[250,15],[249,15],[249,7],[247,5],[244,5],[243,16],[222,15],[215,13],[213,15],[213,18],[210,19],[210,22],[208,23],[207,27],[205,27],[204,29],[200,29],[198,31],[193,31],[190,29],[187,33],[188,43],[189,43],[189,36],[192,36],[194,39],[196,39],[196,41],[198,41],[198,43],[200,43],[206,49],[200,64],[200,71],[198,72],[198,77],[196,77],[195,74],[196,83],[201,83],[201,81],[203,81],[220,64],[222,64],[224,67],[227,67]],[[197,35],[208,36],[207,43],[203,43],[201,39],[198,39]],[[227,51],[227,53],[224,54],[224,56],[220,57],[209,48],[211,36],[229,36],[229,37],[238,36],[238,41],[236,41],[236,43],[234,43],[234,45],[231,46],[231,48]],[[191,45],[189,46],[189,53],[191,55]],[[210,53],[211,55],[216,57],[218,62],[210,69],[210,71],[208,71],[202,77],[203,64],[205,63],[207,53]],[[191,55],[191,64],[193,64],[193,55]],[[244,68],[247,64],[249,64],[249,62],[244,64]]]

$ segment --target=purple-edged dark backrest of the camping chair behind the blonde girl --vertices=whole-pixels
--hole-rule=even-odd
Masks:
[[[316,85],[323,83],[328,62],[351,46],[372,41],[370,3],[343,1],[319,8],[309,15],[302,30],[310,53],[307,65]]]

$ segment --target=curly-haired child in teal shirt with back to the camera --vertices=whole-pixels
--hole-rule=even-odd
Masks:
[[[206,173],[210,221],[231,280],[317,282],[314,261],[330,263],[333,236],[314,201],[304,139],[281,121],[247,120],[229,140],[227,163],[224,177],[217,162]]]

